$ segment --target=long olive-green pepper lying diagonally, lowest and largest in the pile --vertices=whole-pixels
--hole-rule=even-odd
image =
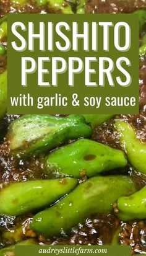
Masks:
[[[135,191],[130,177],[113,175],[90,178],[56,205],[36,214],[30,228],[45,237],[59,236],[61,232],[71,231],[72,227],[92,214],[110,213],[116,199]]]

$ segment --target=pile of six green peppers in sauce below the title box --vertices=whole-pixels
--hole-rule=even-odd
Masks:
[[[28,158],[45,152],[42,166],[46,180],[12,183],[2,188],[0,214],[19,216],[37,211],[30,227],[46,238],[71,231],[89,215],[112,213],[117,200],[120,219],[146,218],[145,188],[137,192],[131,177],[107,175],[110,170],[125,168],[127,158],[135,170],[146,174],[146,144],[136,138],[132,126],[121,120],[115,122],[115,128],[126,154],[87,139],[95,121],[98,124],[101,118],[103,122],[109,118],[93,117],[24,115],[11,123],[6,135],[10,154]],[[69,139],[78,140],[54,150]],[[102,173],[106,176],[100,176]],[[80,184],[78,179],[85,181]],[[135,208],[139,211],[135,212]]]

